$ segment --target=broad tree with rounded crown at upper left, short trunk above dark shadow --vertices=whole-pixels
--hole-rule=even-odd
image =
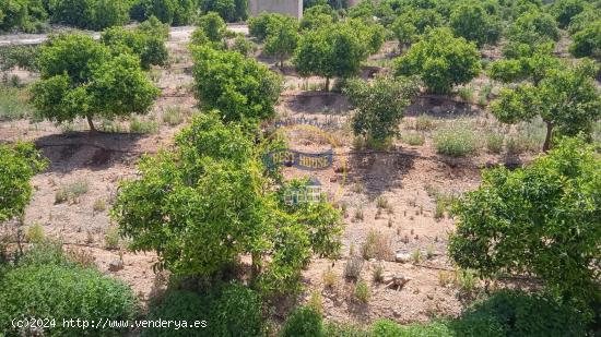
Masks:
[[[131,55],[111,57],[109,49],[86,35],[60,35],[40,47],[42,79],[32,87],[40,117],[56,122],[149,112],[160,91]]]

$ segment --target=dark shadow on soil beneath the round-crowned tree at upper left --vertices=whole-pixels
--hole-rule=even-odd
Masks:
[[[50,160],[48,171],[68,173],[87,168],[93,171],[111,167],[116,163],[143,154],[137,142],[142,134],[71,132],[50,134],[34,144]]]

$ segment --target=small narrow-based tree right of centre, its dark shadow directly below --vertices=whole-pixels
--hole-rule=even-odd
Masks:
[[[381,147],[399,133],[403,109],[417,94],[414,80],[377,77],[373,83],[351,80],[344,94],[356,108],[353,116],[353,132],[367,140],[368,144]]]

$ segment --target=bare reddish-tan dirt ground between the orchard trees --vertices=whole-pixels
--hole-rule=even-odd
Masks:
[[[60,238],[66,246],[79,254],[92,255],[101,270],[123,279],[143,301],[157,287],[164,286],[164,278],[156,276],[152,269],[156,256],[151,252],[106,249],[105,234],[115,226],[109,219],[108,209],[118,182],[135,177],[137,161],[142,155],[168,148],[174,134],[196,113],[197,101],[191,93],[192,64],[186,39],[176,34],[168,47],[174,63],[168,69],[152,71],[152,77],[163,95],[151,115],[141,118],[156,122],[157,132],[127,133],[128,121],[113,124],[122,132],[98,134],[89,134],[84,121],[68,127],[57,127],[47,121],[0,122],[0,142],[33,141],[51,163],[45,172],[33,179],[35,193],[26,210],[25,224],[39,224],[48,237]],[[394,46],[387,45],[387,48],[384,56],[377,56],[372,61],[386,58]],[[271,67],[275,69],[273,64]],[[370,67],[363,73],[368,77],[377,71],[380,70]],[[28,79],[27,74],[21,75],[24,80]],[[423,134],[423,145],[410,146],[397,141],[387,151],[361,151],[353,146],[349,125],[351,107],[343,95],[303,89],[304,83],[307,83],[305,86],[309,83],[318,86],[322,80],[299,79],[292,70],[285,72],[284,79],[286,89],[278,105],[279,118],[303,117],[327,124],[322,128],[327,136],[322,133],[310,136],[290,134],[292,146],[303,151],[330,146],[335,154],[331,168],[316,172],[286,169],[285,174],[308,174],[319,179],[323,192],[331,195],[345,213],[342,258],[315,258],[311,262],[304,272],[307,291],[302,301],[308,300],[313,293],[320,293],[327,318],[360,324],[379,317],[410,323],[459,314],[464,305],[459,296],[460,289],[447,285],[443,279],[444,273],[448,273],[446,269],[452,270],[446,251],[453,220],[448,215],[435,218],[436,204],[428,192],[458,194],[472,190],[480,182],[482,167],[504,164],[508,159],[487,154],[485,149],[467,159],[441,157],[434,149],[431,132],[416,131],[415,123],[422,113],[433,116],[440,124],[460,119],[480,129],[494,124],[494,121],[473,104],[444,97],[422,97],[408,109],[401,130]],[[474,86],[481,86],[479,81],[484,80],[478,79]],[[169,109],[178,109],[184,121],[174,125],[165,122],[164,115]],[[531,154],[523,154],[511,160],[522,163]],[[341,170],[341,167],[345,169]],[[87,192],[75,200],[56,203],[57,191],[78,181],[87,184]],[[377,206],[377,201],[382,198],[389,205],[386,209]],[[108,205],[105,209],[97,206],[102,202]],[[342,274],[346,258],[352,251],[358,254],[370,230],[385,238],[391,255],[387,261],[365,262],[362,276],[369,284],[370,299],[367,303],[357,303],[352,299],[353,285],[346,282]],[[416,251],[424,256],[423,261],[394,262],[396,253],[411,255]],[[120,254],[125,268],[116,273],[108,272],[108,264],[118,260]],[[410,281],[399,290],[373,281],[373,273],[378,265],[384,268],[385,280],[402,275]],[[333,284],[325,285],[325,273],[335,276]]]

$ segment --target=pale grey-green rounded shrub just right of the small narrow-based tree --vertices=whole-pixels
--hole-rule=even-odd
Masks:
[[[467,125],[451,124],[434,134],[436,152],[449,157],[467,157],[478,152],[478,137]]]

